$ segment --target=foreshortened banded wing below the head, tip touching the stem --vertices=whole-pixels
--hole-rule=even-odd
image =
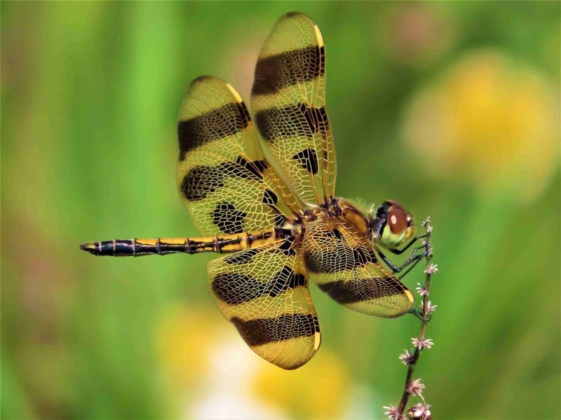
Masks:
[[[377,262],[370,244],[344,222],[318,219],[306,226],[304,259],[310,278],[336,302],[365,314],[393,318],[412,308],[414,297]]]

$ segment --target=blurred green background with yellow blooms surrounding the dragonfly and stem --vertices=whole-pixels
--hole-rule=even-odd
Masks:
[[[3,418],[383,418],[413,316],[312,286],[323,345],[285,372],[210,296],[213,255],[78,244],[195,235],[176,117],[196,76],[249,100],[276,18],[323,31],[337,193],[431,215],[416,377],[435,418],[559,419],[559,2],[1,3]],[[405,283],[422,281],[418,267]]]

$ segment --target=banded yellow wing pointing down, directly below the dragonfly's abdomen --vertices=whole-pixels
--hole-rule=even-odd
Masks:
[[[222,314],[255,353],[283,369],[304,365],[320,345],[302,255],[291,246],[283,239],[208,264]]]

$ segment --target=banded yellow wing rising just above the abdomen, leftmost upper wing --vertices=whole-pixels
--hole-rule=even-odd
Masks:
[[[177,135],[177,183],[203,235],[280,226],[297,210],[229,83],[209,76],[194,80],[183,99]]]

